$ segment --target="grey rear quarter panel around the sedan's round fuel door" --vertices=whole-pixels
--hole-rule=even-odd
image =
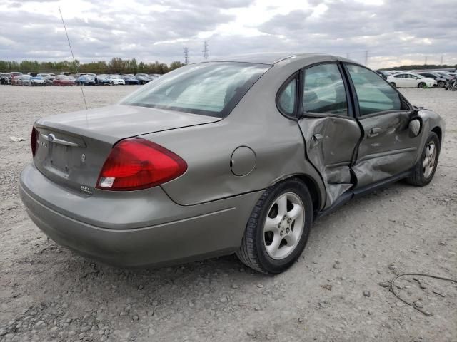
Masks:
[[[303,62],[273,66],[224,120],[142,136],[188,164],[184,175],[161,185],[171,199],[183,205],[199,204],[266,189],[286,177],[304,174],[316,182],[325,203],[321,176],[306,160],[298,124],[276,108],[278,88],[301,66]],[[254,151],[256,165],[240,177],[231,171],[231,155],[241,146]]]

